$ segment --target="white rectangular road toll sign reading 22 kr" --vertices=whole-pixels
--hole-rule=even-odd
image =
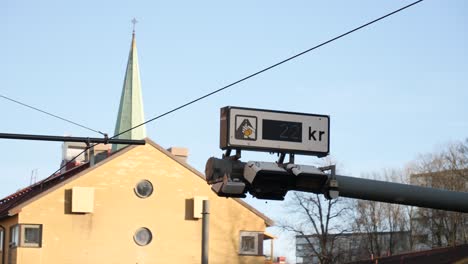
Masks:
[[[330,117],[226,106],[221,108],[220,147],[326,156]]]

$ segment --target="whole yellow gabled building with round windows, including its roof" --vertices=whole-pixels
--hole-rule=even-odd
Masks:
[[[146,142],[1,200],[0,263],[200,263],[203,197],[210,263],[264,263],[272,221],[217,197],[202,174]]]

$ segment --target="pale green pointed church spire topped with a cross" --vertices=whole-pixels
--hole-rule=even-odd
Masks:
[[[128,55],[127,70],[125,72],[125,80],[120,97],[119,113],[115,124],[115,135],[120,134],[134,126],[137,126],[145,121],[143,114],[143,98],[141,93],[140,70],[138,67],[138,54],[135,40],[135,24],[136,19],[132,20],[132,44],[130,54]],[[126,132],[117,138],[120,139],[143,139],[146,137],[145,126],[140,126],[129,132]],[[112,151],[117,151],[125,145],[114,144]]]

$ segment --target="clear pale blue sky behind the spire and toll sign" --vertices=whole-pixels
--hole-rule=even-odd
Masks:
[[[0,94],[112,135],[133,17],[149,119],[409,3],[6,0]],[[467,11],[463,0],[426,0],[149,123],[147,134],[187,147],[204,171],[222,155],[224,106],[326,114],[342,173],[400,168],[468,137]],[[100,137],[3,98],[0,133]],[[0,147],[0,197],[29,185],[33,170],[40,180],[60,165],[61,143],[0,139]],[[247,201],[281,217],[284,202]],[[294,261],[294,241],[280,236],[277,253]]]

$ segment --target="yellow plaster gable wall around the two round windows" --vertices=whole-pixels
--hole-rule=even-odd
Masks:
[[[150,180],[152,196],[134,186]],[[71,214],[69,190],[95,187],[94,213]],[[188,217],[191,198],[210,200],[210,263],[263,263],[238,256],[239,231],[264,231],[264,220],[232,199],[220,198],[206,182],[151,145],[135,147],[26,205],[20,223],[43,224],[42,249],[19,248],[18,263],[200,263],[201,219]],[[134,232],[147,227],[144,247]]]

